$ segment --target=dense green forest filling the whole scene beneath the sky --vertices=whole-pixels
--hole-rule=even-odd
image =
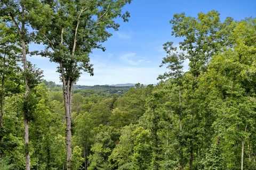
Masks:
[[[255,18],[175,14],[156,86],[83,87],[130,1],[55,2],[0,1],[0,169],[256,169]],[[29,54],[58,63],[62,84]]]

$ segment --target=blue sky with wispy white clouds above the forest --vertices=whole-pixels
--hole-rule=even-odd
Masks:
[[[167,41],[179,43],[171,36],[172,25],[169,21],[173,14],[185,12],[186,15],[196,16],[199,12],[217,10],[221,20],[227,16],[242,20],[255,17],[255,7],[254,0],[133,0],[124,8],[131,14],[129,22],[120,22],[119,31],[113,31],[113,36],[103,43],[107,48],[105,52],[94,50],[90,55],[94,76],[83,73],[77,84],[155,84],[158,75],[166,71],[159,67],[165,56],[162,45]],[[30,45],[30,50],[41,48],[40,45]],[[44,79],[60,84],[59,74],[55,72],[57,64],[39,56],[29,57],[28,60],[44,71]]]

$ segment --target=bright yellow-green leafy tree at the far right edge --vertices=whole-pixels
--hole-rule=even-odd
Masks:
[[[255,69],[252,69],[255,63],[253,57],[255,43],[251,38],[255,32],[253,25],[255,25],[255,19],[237,22],[228,39],[230,44],[233,44],[233,49],[226,48],[223,53],[216,55],[211,63],[211,67],[229,82],[221,87],[225,105],[228,108],[224,114],[227,121],[225,122],[226,131],[223,131],[227,134],[224,138],[234,145],[229,154],[233,156],[226,157],[225,155],[229,168],[241,165],[243,169],[247,166],[244,165],[244,150],[250,147],[246,148],[245,142],[250,143],[253,133],[253,128],[251,128],[254,124],[252,120],[255,119]],[[230,148],[225,147],[225,149],[230,151]]]

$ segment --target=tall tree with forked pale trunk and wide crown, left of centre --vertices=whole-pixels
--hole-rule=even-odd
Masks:
[[[118,29],[115,18],[127,21],[129,13],[122,14],[122,7],[130,0],[118,1],[51,1],[50,21],[38,27],[43,44],[47,45],[43,56],[59,64],[67,122],[67,167],[71,168],[71,104],[74,83],[82,71],[93,75],[89,55],[93,48],[101,48],[111,33]]]

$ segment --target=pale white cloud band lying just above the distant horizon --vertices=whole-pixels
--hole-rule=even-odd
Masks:
[[[114,55],[115,56],[115,55]],[[146,58],[137,56],[136,53],[126,53],[122,55],[126,57],[132,64],[115,64],[109,63],[107,60],[102,60],[103,56],[93,56],[92,64],[94,68],[94,76],[91,77],[88,73],[83,72],[77,84],[93,86],[95,84],[119,84],[119,83],[142,83],[155,84],[158,81],[156,78],[159,74],[163,74],[166,69],[158,67],[158,63],[151,63],[150,65],[140,65],[137,63],[149,63]],[[134,60],[134,58],[137,60]],[[133,61],[134,60],[134,61]],[[60,83],[59,73],[54,69],[44,70],[44,79]]]

